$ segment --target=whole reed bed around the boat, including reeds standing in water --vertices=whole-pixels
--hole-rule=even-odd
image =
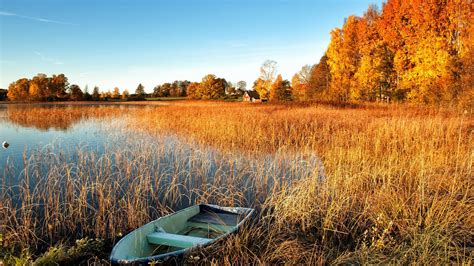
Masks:
[[[121,121],[101,154],[53,147],[24,159],[21,183],[2,186],[4,246],[113,243],[209,202],[252,206],[258,217],[189,263],[472,263],[470,113],[177,102]]]

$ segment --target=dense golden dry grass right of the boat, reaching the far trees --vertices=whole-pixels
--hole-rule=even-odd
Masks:
[[[256,230],[271,229],[258,247],[245,252],[242,245],[239,253],[232,243],[219,262],[472,260],[471,114],[406,105],[195,103],[139,117],[147,130],[180,132],[217,149],[322,158],[326,182],[304,178],[272,194]],[[247,244],[255,235],[251,230]]]

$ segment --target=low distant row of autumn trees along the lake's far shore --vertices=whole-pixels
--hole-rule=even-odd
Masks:
[[[188,97],[190,99],[222,99],[240,97],[246,90],[246,82],[239,81],[236,86],[224,78],[208,74],[201,82],[188,80],[163,83],[154,87],[151,94],[145,92],[140,83],[134,94],[118,87],[112,91],[100,91],[95,86],[92,93],[86,85],[84,91],[76,85],[70,85],[64,74],[38,74],[31,79],[21,78],[12,82],[8,90],[0,89],[0,100],[10,101],[107,101],[107,100],[145,100],[146,97]]]

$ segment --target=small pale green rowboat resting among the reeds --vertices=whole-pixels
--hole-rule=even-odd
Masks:
[[[114,264],[145,264],[180,257],[191,249],[210,245],[231,233],[252,215],[253,209],[195,205],[147,223],[113,248]]]

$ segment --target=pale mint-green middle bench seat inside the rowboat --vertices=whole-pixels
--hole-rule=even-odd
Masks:
[[[178,248],[190,248],[212,241],[209,238],[154,232],[146,236],[148,243]]]

